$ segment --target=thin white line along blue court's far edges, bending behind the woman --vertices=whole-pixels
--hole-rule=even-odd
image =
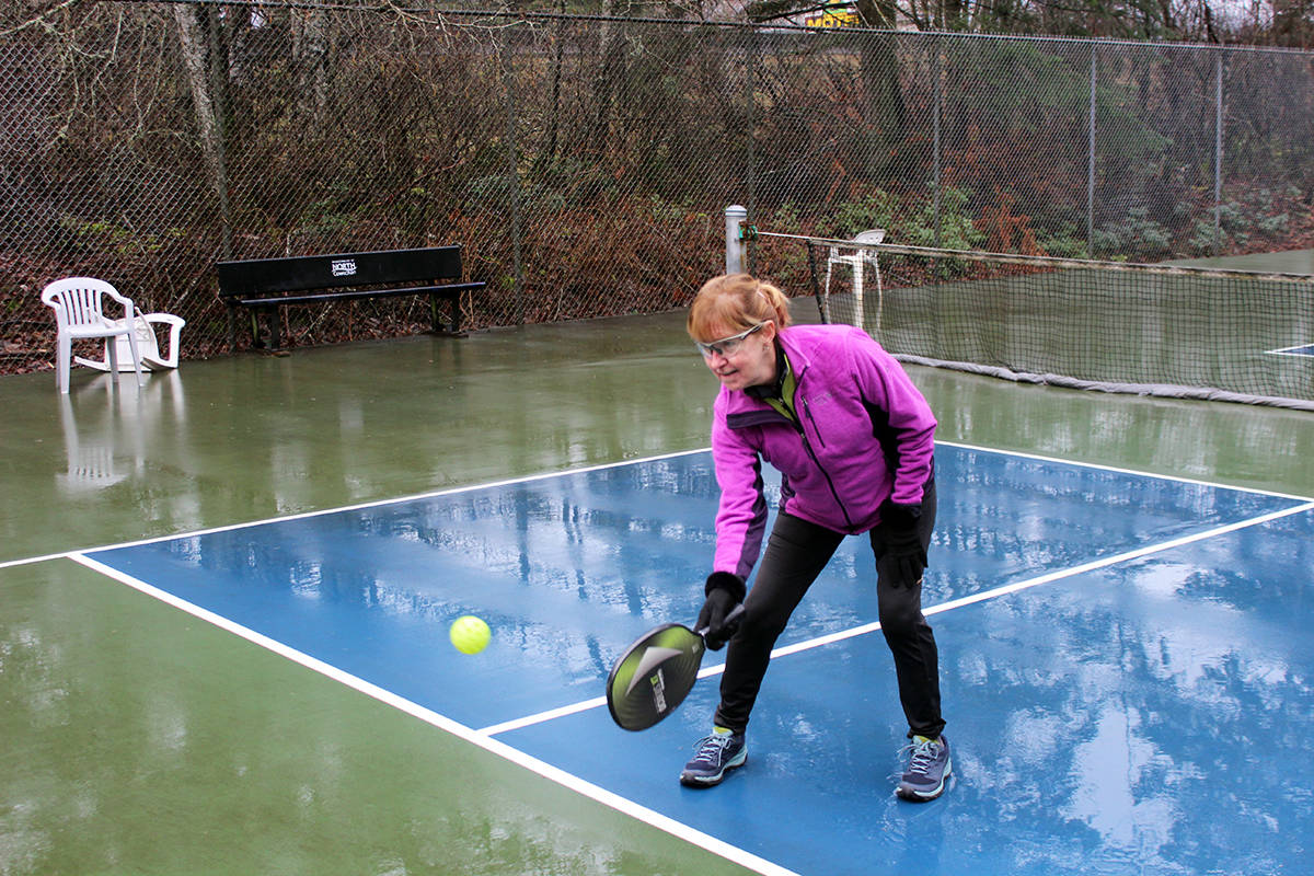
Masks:
[[[1042,456],[1042,454],[1038,454],[1038,453],[1025,453],[1022,450],[1001,450],[1001,449],[996,449],[996,448],[979,447],[979,445],[974,445],[974,444],[961,444],[961,443],[957,443],[957,441],[937,441],[936,444],[938,444],[941,447],[954,447],[954,448],[959,448],[959,449],[963,449],[963,450],[972,450],[972,452],[976,452],[976,453],[993,453],[996,456],[1013,456],[1013,457],[1018,457],[1018,458],[1022,458],[1022,460],[1037,460],[1037,461],[1041,461],[1041,462],[1051,462],[1054,465],[1071,465],[1071,466],[1075,466],[1075,468],[1079,468],[1079,469],[1096,469],[1096,470],[1100,470],[1100,471],[1113,471],[1116,474],[1133,474],[1133,475],[1137,475],[1137,477],[1154,478],[1154,479],[1158,479],[1158,481],[1172,481],[1172,482],[1176,482],[1176,483],[1192,483],[1192,485],[1204,486],[1204,487],[1213,487],[1215,490],[1229,490],[1229,491],[1233,491],[1233,493],[1250,493],[1250,494],[1254,494],[1254,495],[1268,495],[1268,496],[1276,496],[1279,499],[1292,499],[1293,502],[1314,502],[1314,498],[1311,498],[1311,496],[1300,496],[1300,495],[1292,495],[1292,494],[1286,494],[1286,493],[1275,493],[1272,490],[1256,490],[1254,487],[1238,487],[1238,486],[1233,486],[1233,485],[1227,485],[1227,483],[1214,483],[1214,482],[1210,482],[1210,481],[1197,481],[1197,479],[1193,479],[1193,478],[1183,478],[1183,477],[1176,477],[1176,475],[1171,475],[1171,474],[1156,474],[1154,471],[1139,471],[1137,469],[1122,469],[1122,468],[1117,468],[1117,466],[1112,466],[1112,465],[1101,465],[1099,462],[1072,461],[1072,460],[1064,460],[1064,458],[1060,458],[1060,457]],[[76,550],[63,550],[63,552],[59,552],[59,553],[43,554],[43,556],[39,556],[39,557],[24,557],[21,559],[5,559],[5,561],[0,561],[0,569],[8,569],[11,566],[26,566],[26,565],[38,563],[38,562],[46,562],[49,559],[63,559],[66,557],[72,557],[74,554],[99,553],[101,550],[117,550],[120,548],[137,548],[137,546],[141,546],[141,545],[159,544],[162,541],[173,541],[173,540],[177,540],[177,538],[196,538],[196,537],[200,537],[200,536],[208,536],[208,535],[213,535],[213,533],[217,533],[217,532],[233,532],[235,529],[246,529],[246,528],[254,528],[254,527],[263,527],[265,524],[284,523],[284,521],[288,521],[288,520],[305,520],[307,517],[321,517],[321,516],[325,516],[325,515],[339,514],[339,512],[344,512],[344,511],[360,511],[360,510],[364,510],[364,508],[380,508],[380,507],[389,506],[389,504],[401,504],[402,502],[415,502],[415,500],[419,500],[419,499],[434,499],[434,498],[444,496],[444,495],[459,495],[461,493],[470,493],[470,491],[474,491],[474,490],[491,490],[494,487],[505,487],[505,486],[511,486],[511,485],[515,485],[515,483],[531,483],[533,481],[547,481],[549,478],[568,477],[568,475],[573,475],[573,474],[582,474],[582,473],[586,473],[586,471],[602,471],[602,470],[606,470],[606,469],[620,468],[623,465],[643,465],[645,462],[658,462],[661,460],[673,460],[673,458],[681,457],[681,456],[694,456],[694,454],[698,454],[698,453],[708,453],[708,452],[711,452],[711,448],[707,448],[707,447],[696,448],[696,449],[692,449],[692,450],[675,450],[673,453],[662,453],[662,454],[658,454],[658,456],[648,456],[648,457],[643,457],[643,458],[637,458],[637,460],[622,460],[620,462],[603,462],[603,464],[599,464],[599,465],[585,466],[582,469],[565,469],[565,470],[561,470],[561,471],[543,471],[543,473],[539,473],[539,474],[527,474],[527,475],[519,477],[519,478],[507,478],[505,481],[490,481],[490,482],[486,482],[486,483],[473,483],[473,485],[468,485],[468,486],[463,486],[463,487],[449,487],[447,490],[432,490],[430,493],[417,493],[414,495],[399,496],[399,498],[396,498],[396,499],[376,499],[373,502],[361,502],[361,503],[357,503],[357,504],[338,506],[338,507],[334,507],[334,508],[322,508],[319,511],[304,511],[301,514],[290,514],[290,515],[285,515],[285,516],[281,516],[281,517],[265,517],[263,520],[247,520],[244,523],[231,523],[231,524],[222,525],[222,527],[212,527],[209,529],[193,529],[191,532],[179,532],[179,533],[164,535],[164,536],[151,536],[150,538],[138,538],[135,541],[121,541],[121,542],[117,542],[117,544],[102,545],[102,546],[99,546],[99,548],[80,548],[80,549],[76,549]]]

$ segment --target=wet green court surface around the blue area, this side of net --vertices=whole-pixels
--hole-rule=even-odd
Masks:
[[[1314,494],[1307,412],[911,373],[945,441]],[[745,872],[63,557],[706,447],[683,314],[72,386],[0,378],[0,873]]]

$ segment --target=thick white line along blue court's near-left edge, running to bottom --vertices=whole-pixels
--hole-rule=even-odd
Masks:
[[[681,823],[674,818],[664,816],[653,809],[648,809],[646,806],[643,806],[632,800],[627,800],[625,797],[622,797],[618,793],[614,793],[611,791],[607,791],[606,788],[595,785],[591,781],[585,781],[583,779],[574,776],[566,772],[565,770],[555,767],[551,763],[547,763],[532,755],[519,751],[518,749],[512,749],[505,742],[493,739],[485,733],[478,733],[476,730],[472,730],[470,728],[465,726],[464,724],[460,724],[459,721],[453,721],[452,718],[444,714],[439,714],[432,709],[426,709],[424,707],[417,703],[411,703],[405,697],[397,696],[392,691],[386,691],[376,684],[371,684],[369,682],[357,678],[351,672],[344,672],[336,666],[315,659],[314,657],[298,651],[294,647],[289,647],[288,645],[284,645],[277,640],[258,633],[254,629],[250,629],[248,626],[237,624],[229,620],[227,617],[223,617],[222,615],[217,615],[209,609],[201,608],[194,603],[191,603],[185,599],[180,599],[173,594],[159,590],[158,587],[152,587],[151,584],[147,584],[139,578],[134,578],[133,575],[118,571],[117,569],[106,566],[105,563],[97,559],[92,559],[91,557],[87,557],[80,553],[70,553],[66,554],[66,557],[68,559],[72,559],[74,562],[81,563],[87,569],[99,571],[100,574],[106,575],[108,578],[113,578],[120,583],[127,584],[134,590],[139,590],[141,592],[148,596],[154,596],[155,599],[163,603],[179,608],[192,615],[193,617],[213,624],[214,626],[218,626],[222,630],[233,633],[234,636],[239,636],[247,640],[248,642],[252,642],[254,645],[259,645],[265,650],[273,651],[275,654],[284,657],[292,661],[293,663],[304,666],[314,672],[319,672],[321,675],[325,675],[340,684],[344,684],[352,688],[353,691],[373,697],[380,703],[384,703],[386,705],[393,707],[394,709],[405,712],[411,717],[417,717],[420,721],[424,721],[426,724],[430,724],[440,730],[445,730],[447,733],[451,733],[452,735],[457,737],[464,742],[484,749],[489,754],[503,758],[505,760],[509,760],[518,767],[522,767],[524,770],[528,770],[530,772],[540,775],[544,779],[555,781],[556,784],[562,785],[564,788],[568,788],[570,791],[574,791],[576,793],[579,793],[585,797],[589,797],[590,800],[595,800],[597,802],[600,802],[604,806],[610,806],[611,809],[615,809],[616,812],[629,816],[631,818],[636,818],[644,823],[652,825],[653,827],[657,827],[658,830],[662,830],[678,839],[683,839],[687,843],[704,848],[715,855],[720,855],[721,858],[725,858],[727,860],[740,864],[741,867],[746,867],[748,869],[752,869],[754,872],[763,873],[765,876],[798,876],[791,869],[786,869],[784,867],[774,864],[763,858],[758,858],[757,855],[749,851],[745,851],[736,846],[731,846],[729,843],[717,839],[711,834],[704,834],[700,830],[695,830],[689,825]]]

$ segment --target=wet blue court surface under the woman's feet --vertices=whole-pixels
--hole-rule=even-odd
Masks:
[[[759,872],[1303,872],[1314,500],[966,445],[937,466],[955,776],[921,806],[892,796],[905,728],[862,538],[781,640],[724,785],[675,780],[715,672],[652,730],[611,724],[611,662],[700,604],[706,452],[76,558]],[[493,626],[482,654],[447,642],[463,613]]]

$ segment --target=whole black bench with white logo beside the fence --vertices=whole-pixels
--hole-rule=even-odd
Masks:
[[[482,282],[461,278],[461,247],[340,252],[327,256],[219,261],[219,298],[229,309],[229,345],[237,349],[237,311],[251,311],[251,344],[260,347],[260,315],[265,317],[269,349],[281,345],[279,309],[353,298],[428,296],[435,332],[461,334],[461,293]],[[422,285],[420,285],[422,284]],[[444,326],[439,301],[451,313]]]

